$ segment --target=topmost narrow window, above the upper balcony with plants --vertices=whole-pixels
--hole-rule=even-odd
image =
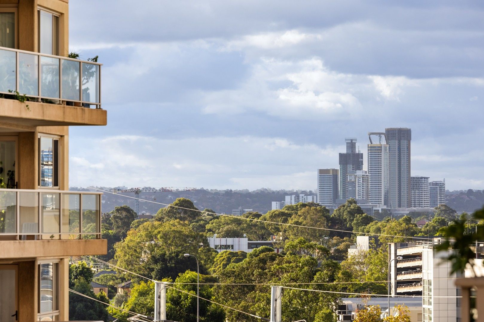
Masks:
[[[39,10],[39,52],[59,55],[59,16]]]

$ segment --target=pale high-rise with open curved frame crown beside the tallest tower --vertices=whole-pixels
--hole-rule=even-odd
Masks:
[[[378,136],[378,143],[372,140],[372,136]],[[390,207],[390,147],[385,133],[370,132],[368,138],[369,201],[380,207]]]

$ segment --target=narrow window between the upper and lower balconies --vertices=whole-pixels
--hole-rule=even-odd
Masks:
[[[59,187],[59,139],[39,138],[39,186]]]

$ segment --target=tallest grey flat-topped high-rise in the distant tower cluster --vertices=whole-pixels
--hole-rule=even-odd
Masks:
[[[411,207],[410,140],[412,131],[404,127],[385,129],[390,147],[390,207]]]

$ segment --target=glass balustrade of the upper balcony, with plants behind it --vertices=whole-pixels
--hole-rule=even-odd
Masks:
[[[0,94],[101,108],[101,65],[0,47]]]

